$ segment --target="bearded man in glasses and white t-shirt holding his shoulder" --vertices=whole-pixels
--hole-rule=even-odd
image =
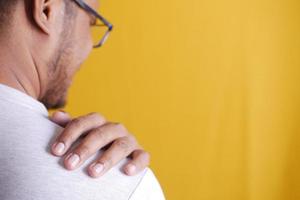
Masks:
[[[47,109],[65,105],[93,45],[106,39],[91,39],[97,6],[0,0],[1,200],[164,199],[148,154],[122,124],[97,113],[48,118]]]

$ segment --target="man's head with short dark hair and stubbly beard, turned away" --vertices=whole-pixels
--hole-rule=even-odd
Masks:
[[[97,0],[85,2],[97,7]],[[0,0],[0,40],[25,47],[39,79],[38,100],[47,108],[65,105],[72,78],[93,46],[91,21],[74,0]]]

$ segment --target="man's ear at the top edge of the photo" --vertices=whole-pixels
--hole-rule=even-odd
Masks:
[[[55,25],[57,16],[57,0],[33,0],[33,20],[38,28],[46,34],[50,34]]]

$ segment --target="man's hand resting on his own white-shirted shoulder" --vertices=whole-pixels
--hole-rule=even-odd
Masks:
[[[127,175],[135,175],[149,165],[149,153],[142,149],[134,136],[120,123],[107,122],[98,113],[71,119],[67,113],[57,111],[50,119],[65,127],[52,145],[54,155],[64,155],[75,141],[83,138],[64,159],[64,165],[68,170],[78,168],[86,159],[106,146],[109,147],[88,167],[88,173],[92,177],[103,175],[127,156],[132,158],[123,167]]]

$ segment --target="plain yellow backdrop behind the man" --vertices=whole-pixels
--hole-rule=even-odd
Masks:
[[[300,199],[300,1],[101,1],[66,108],[119,121],[170,200]]]

